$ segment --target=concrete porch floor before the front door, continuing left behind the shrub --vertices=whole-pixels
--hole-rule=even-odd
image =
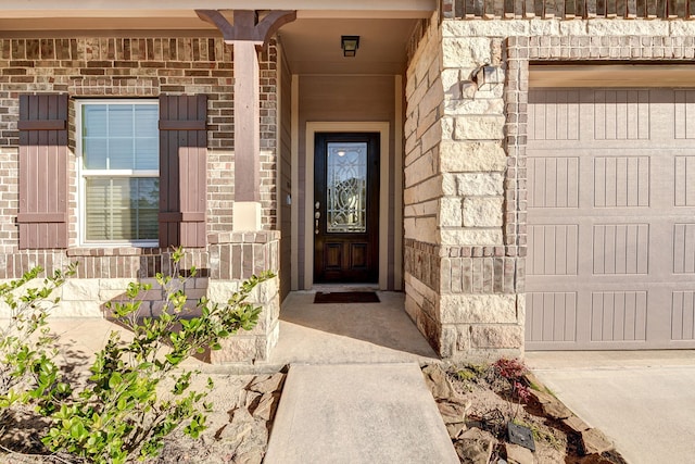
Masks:
[[[338,291],[338,288],[320,288]],[[433,362],[437,353],[404,310],[404,294],[379,291],[379,303],[314,304],[314,291],[288,296],[280,311],[280,337],[269,360],[253,366],[211,365],[188,360],[188,368],[217,373],[277,371],[288,364],[370,364]],[[111,330],[128,333],[101,318],[49,318],[63,352],[87,364],[106,343]]]

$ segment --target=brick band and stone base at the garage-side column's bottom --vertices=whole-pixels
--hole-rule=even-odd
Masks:
[[[522,356],[525,296],[514,290],[516,258],[405,244],[405,310],[440,356],[467,363]]]

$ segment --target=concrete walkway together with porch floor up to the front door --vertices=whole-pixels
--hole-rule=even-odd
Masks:
[[[265,464],[458,463],[419,368],[437,353],[403,293],[378,294],[364,304],[287,298],[268,362],[290,371]]]

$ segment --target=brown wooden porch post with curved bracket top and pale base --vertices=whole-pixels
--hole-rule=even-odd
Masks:
[[[235,230],[261,229],[261,83],[258,51],[295,11],[271,11],[258,22],[254,10],[233,10],[232,21],[218,10],[195,10],[219,29],[233,48],[235,66]]]

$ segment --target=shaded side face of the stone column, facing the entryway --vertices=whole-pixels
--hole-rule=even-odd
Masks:
[[[437,21],[414,32],[405,81],[403,264],[405,311],[430,344],[443,355],[439,311],[438,239],[441,174],[439,145],[444,91],[441,83],[441,36]]]

